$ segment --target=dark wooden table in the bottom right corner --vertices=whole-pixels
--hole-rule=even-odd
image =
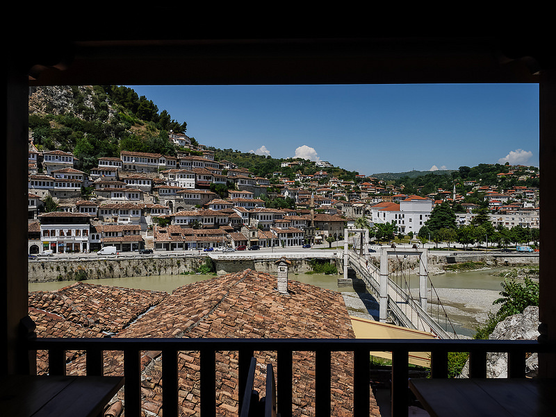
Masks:
[[[556,416],[554,379],[409,380],[431,416]]]

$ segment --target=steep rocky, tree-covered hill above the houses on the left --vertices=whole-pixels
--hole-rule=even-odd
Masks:
[[[28,102],[35,146],[73,153],[76,169],[85,172],[97,167],[98,158],[119,158],[122,150],[175,155],[168,132],[187,128],[128,87],[31,87]]]

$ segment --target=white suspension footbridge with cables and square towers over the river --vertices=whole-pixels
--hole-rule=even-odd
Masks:
[[[457,339],[427,272],[427,249],[381,248],[379,266],[345,245],[344,277],[352,269],[379,301],[379,321]],[[413,275],[413,276],[412,276]],[[418,279],[418,284],[416,280]]]

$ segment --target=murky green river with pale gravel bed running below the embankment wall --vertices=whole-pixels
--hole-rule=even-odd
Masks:
[[[442,301],[443,308],[457,334],[471,337],[475,327],[484,323],[489,310],[495,308],[492,303],[499,298],[502,278],[491,275],[497,270],[469,271],[460,273],[444,273],[431,275],[430,280],[434,289],[430,293],[437,294]],[[200,280],[215,278],[215,275],[150,275],[133,278],[108,278],[89,280],[92,284],[108,285],[113,287],[126,287],[136,289],[149,289],[172,293],[177,287]],[[341,275],[323,274],[293,274],[290,280],[316,285],[325,289],[341,292],[350,314],[370,318],[378,317],[378,304],[367,291],[354,289],[352,286],[339,286],[338,278]],[[72,281],[38,282],[29,283],[29,291],[56,291]],[[418,277],[409,277],[409,287],[412,293],[418,288]],[[415,293],[414,293],[415,295]]]

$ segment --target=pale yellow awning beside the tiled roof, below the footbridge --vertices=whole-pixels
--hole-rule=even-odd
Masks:
[[[380,323],[350,316],[355,339],[436,339],[436,336],[422,330],[408,329],[392,324]],[[391,352],[370,352],[370,355],[392,359]],[[409,352],[409,363],[430,367],[430,352]]]

